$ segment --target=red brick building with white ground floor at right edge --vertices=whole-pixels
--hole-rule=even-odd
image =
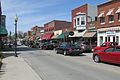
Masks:
[[[107,41],[120,45],[120,0],[100,4],[97,8],[97,45]]]

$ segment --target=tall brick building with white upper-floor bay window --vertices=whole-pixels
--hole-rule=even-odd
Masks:
[[[74,35],[69,36],[73,38],[74,42],[84,40],[86,42],[93,42],[96,40],[94,37],[95,21],[97,16],[97,7],[89,4],[82,5],[72,10],[72,27]],[[94,39],[95,38],[95,39]]]

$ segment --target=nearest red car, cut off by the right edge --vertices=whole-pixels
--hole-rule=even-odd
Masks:
[[[120,46],[110,47],[102,51],[97,51],[93,53],[93,60],[95,62],[109,62],[120,64]]]

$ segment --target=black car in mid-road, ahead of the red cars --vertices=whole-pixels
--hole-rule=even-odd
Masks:
[[[82,50],[79,45],[62,43],[56,48],[56,53],[62,53],[64,55],[79,55],[82,54]]]

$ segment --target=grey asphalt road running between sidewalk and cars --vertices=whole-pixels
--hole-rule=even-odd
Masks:
[[[91,53],[64,56],[28,47],[19,52],[43,80],[120,80],[120,66],[95,63]]]

